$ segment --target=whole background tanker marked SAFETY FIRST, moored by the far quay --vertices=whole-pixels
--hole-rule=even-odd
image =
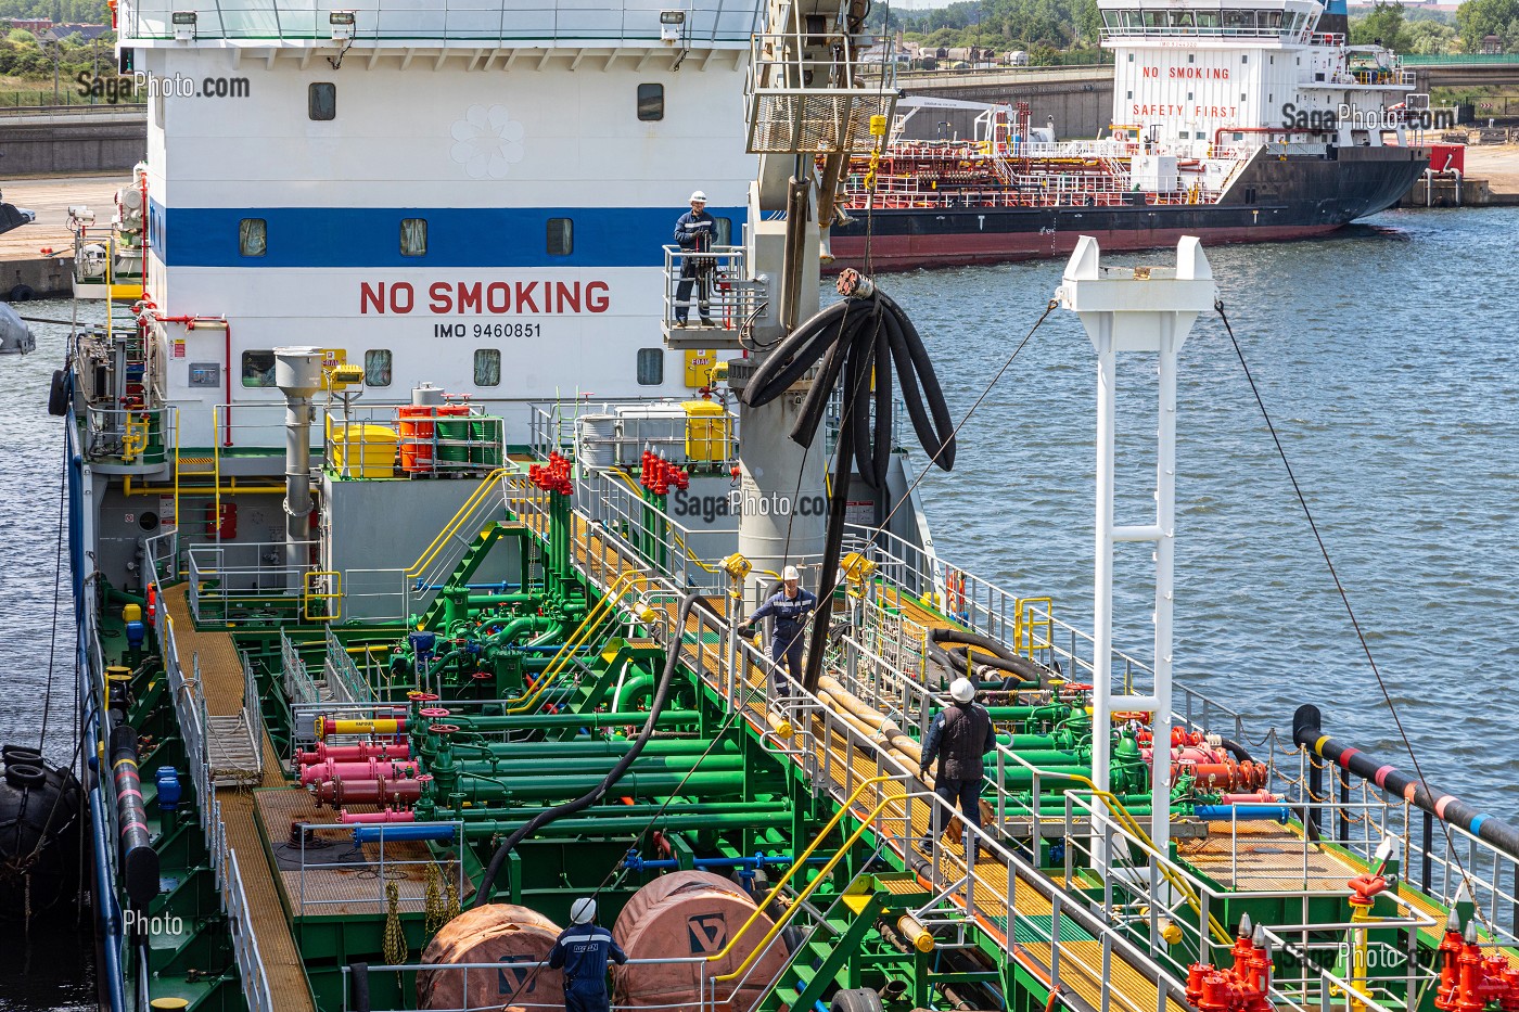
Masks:
[[[1376,214],[1429,164],[1428,96],[1343,5],[1101,0],[1112,126],[1056,143],[1019,105],[962,143],[895,141],[835,198],[838,266],[931,267],[1320,236]]]

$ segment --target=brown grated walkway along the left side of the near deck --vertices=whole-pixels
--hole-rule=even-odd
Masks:
[[[199,631],[190,615],[185,600],[185,583],[164,591],[163,602],[182,661],[194,659],[201,673],[201,693],[205,697],[207,723],[217,726],[217,719],[240,719],[243,714],[243,664],[237,646],[226,632]],[[279,772],[279,757],[267,734],[263,738],[264,787],[284,787]],[[292,789],[298,790],[298,789]],[[298,792],[304,793],[304,792]],[[249,927],[263,954],[263,971],[269,989],[279,1003],[281,1012],[314,1012],[311,988],[305,979],[301,953],[290,936],[290,927],[279,906],[279,889],[264,857],[264,843],[254,818],[254,795],[243,786],[217,786],[216,799],[220,804],[226,842],[242,855],[238,874],[251,916]],[[202,798],[201,804],[211,799]]]

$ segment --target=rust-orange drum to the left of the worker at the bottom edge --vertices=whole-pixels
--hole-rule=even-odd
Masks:
[[[527,907],[489,903],[450,921],[422,953],[439,969],[416,974],[419,1009],[492,1009],[564,1001],[564,976],[548,966],[444,969],[448,963],[533,963],[548,959],[559,925]]]

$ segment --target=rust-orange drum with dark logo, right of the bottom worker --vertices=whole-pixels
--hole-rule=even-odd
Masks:
[[[738,935],[753,912],[753,901],[732,881],[712,872],[679,871],[633,893],[612,927],[612,938],[629,959],[670,959],[718,954],[737,936],[737,945],[705,965],[705,980],[711,982],[737,969],[770,931],[773,922],[761,915]],[[717,985],[715,1007],[747,1012],[760,992],[785,969],[787,959],[785,945],[776,939],[740,979]],[[685,1003],[694,1007],[702,971],[696,962],[614,968],[614,1001],[632,1007]]]

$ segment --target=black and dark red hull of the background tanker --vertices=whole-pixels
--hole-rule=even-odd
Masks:
[[[1062,257],[1082,236],[1103,249],[1281,242],[1323,236],[1394,205],[1423,175],[1420,147],[1340,147],[1325,155],[1256,155],[1215,204],[1124,207],[936,207],[854,211],[834,225],[832,267],[860,267],[869,237],[873,270],[907,270]]]

